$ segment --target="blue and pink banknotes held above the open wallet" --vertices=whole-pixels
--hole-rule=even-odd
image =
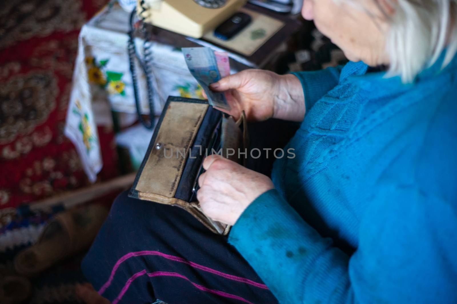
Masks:
[[[183,47],[189,71],[205,91],[209,103],[213,107],[230,110],[225,94],[213,92],[209,85],[218,82],[222,77],[230,75],[228,56],[223,52],[215,52],[209,47]]]

